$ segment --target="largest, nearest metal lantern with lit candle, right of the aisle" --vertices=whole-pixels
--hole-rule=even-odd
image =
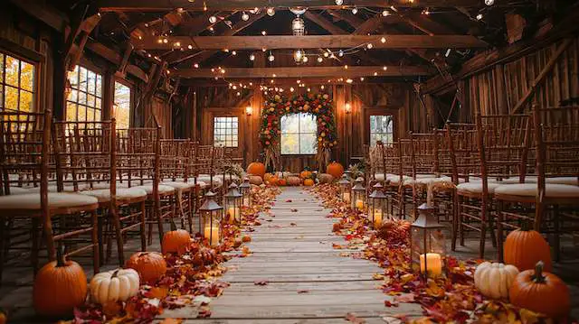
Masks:
[[[410,253],[414,270],[419,270],[422,278],[435,278],[442,274],[446,255],[446,242],[442,226],[432,213],[434,208],[422,204],[419,216],[410,227]]]

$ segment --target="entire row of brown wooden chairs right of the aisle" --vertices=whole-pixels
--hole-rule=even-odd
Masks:
[[[579,230],[579,106],[529,115],[477,116],[429,134],[410,134],[367,151],[371,181],[384,181],[391,216],[415,218],[428,202],[451,224],[451,248],[487,236],[502,260],[508,231],[529,227],[552,238]],[[368,186],[370,187],[370,186]]]

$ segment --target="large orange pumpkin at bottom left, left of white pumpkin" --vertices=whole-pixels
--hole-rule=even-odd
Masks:
[[[71,315],[87,298],[87,276],[81,265],[65,260],[63,248],[56,261],[45,264],[34,279],[33,306],[37,313],[50,316]]]

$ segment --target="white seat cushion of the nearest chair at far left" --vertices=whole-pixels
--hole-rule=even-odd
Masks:
[[[81,207],[97,204],[98,199],[78,193],[49,192],[48,205],[50,208]],[[24,195],[10,195],[0,197],[0,209],[40,209],[40,194],[27,193]]]

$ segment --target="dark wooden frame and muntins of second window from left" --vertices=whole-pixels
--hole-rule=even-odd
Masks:
[[[76,104],[76,105],[77,105],[77,110],[76,110],[76,119],[73,120],[72,122],[79,122],[79,106],[83,106],[83,107],[85,108],[85,117],[86,117],[86,111],[87,111],[89,108],[92,108],[92,109],[95,109],[95,110],[100,110],[99,119],[96,118],[97,114],[96,114],[96,112],[95,112],[95,118],[94,118],[93,121],[102,121],[102,120],[103,120],[103,117],[104,117],[104,109],[105,109],[105,102],[104,102],[104,97],[105,97],[105,83],[107,83],[107,79],[106,79],[105,73],[104,73],[104,71],[103,71],[102,69],[100,69],[99,67],[95,66],[94,64],[91,64],[91,63],[90,63],[89,61],[87,61],[87,60],[81,60],[81,61],[74,67],[74,69],[76,69],[76,67],[79,67],[79,72],[80,72],[80,69],[83,68],[83,69],[87,69],[87,71],[93,72],[93,73],[95,74],[95,92],[94,92],[94,94],[91,94],[91,93],[89,92],[89,83],[88,83],[88,81],[87,81],[87,89],[86,89],[86,91],[82,91],[82,90],[80,89],[80,87],[78,87],[78,86],[77,86],[78,88],[72,88],[72,85],[71,85],[71,92],[72,92],[72,90],[76,90],[76,91],[77,91],[77,99],[76,99],[76,101],[71,101],[71,100],[68,99],[68,97],[65,97],[65,98],[64,98],[66,105],[64,106],[64,114],[63,114],[63,116],[62,116],[62,119],[65,120],[65,121],[70,121],[70,120],[67,119],[67,116],[68,116],[67,110],[68,110],[68,106],[69,106],[68,104],[69,104],[69,103],[73,103],[73,104]],[[98,82],[97,82],[97,79],[98,79],[98,78],[97,78],[97,77],[98,77],[98,76],[100,76],[100,97],[97,97],[97,85],[98,85]],[[66,79],[67,79],[67,82],[70,82],[70,81],[69,81],[69,78],[68,78],[68,75],[67,75]],[[80,84],[80,80],[81,80],[81,74],[80,74],[80,73],[77,75],[77,80],[78,80],[78,82],[79,82],[79,84]],[[87,80],[88,80],[88,72],[87,72]],[[86,99],[87,104],[80,104],[80,103],[79,103],[79,93],[80,93],[80,92],[83,92],[83,93],[85,93],[85,94],[87,95],[87,99]],[[88,96],[89,96],[89,95],[95,97],[95,106],[94,106],[94,107],[91,107],[91,106],[89,106],[89,104],[88,104]],[[114,96],[114,94],[113,94],[113,96]],[[96,105],[96,100],[97,100],[98,98],[100,98],[100,108],[99,108],[99,109],[97,109],[97,105]],[[85,120],[83,120],[83,121],[86,121],[86,118],[85,118]],[[82,121],[81,121],[81,122],[82,122]]]

